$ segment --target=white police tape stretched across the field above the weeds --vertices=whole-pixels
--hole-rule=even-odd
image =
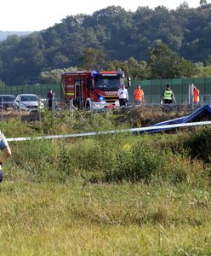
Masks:
[[[157,125],[150,127],[142,127],[142,128],[131,128],[124,130],[113,130],[113,131],[93,131],[87,133],[73,133],[66,135],[52,135],[52,136],[40,136],[40,137],[14,137],[7,138],[8,142],[21,142],[21,141],[30,141],[30,140],[41,140],[41,139],[58,139],[58,138],[67,138],[67,137],[88,137],[95,135],[106,135],[106,134],[115,134],[115,133],[123,133],[123,132],[145,132],[145,131],[154,131],[154,130],[167,130],[173,128],[181,128],[181,127],[191,127],[191,126],[199,126],[199,125],[211,125],[211,121],[204,122],[195,122],[195,123],[185,123],[185,124],[177,124],[177,125]]]

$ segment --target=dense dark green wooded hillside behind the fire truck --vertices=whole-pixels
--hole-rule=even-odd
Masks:
[[[24,37],[11,35],[0,43],[0,82],[36,84],[67,67],[118,68],[134,79],[202,74],[210,65],[211,8],[201,2],[197,9],[184,2],[175,10],[135,12],[111,6]]]

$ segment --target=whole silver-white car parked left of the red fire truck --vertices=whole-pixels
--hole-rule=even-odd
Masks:
[[[40,104],[40,105],[39,105]],[[14,108],[25,111],[37,111],[43,108],[43,102],[35,94],[19,94],[14,100]]]

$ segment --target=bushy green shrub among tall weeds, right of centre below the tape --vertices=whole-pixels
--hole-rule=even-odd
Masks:
[[[163,165],[161,148],[155,148],[150,136],[137,137],[126,149],[116,152],[115,163],[106,168],[107,181],[129,180],[149,182],[151,175]]]

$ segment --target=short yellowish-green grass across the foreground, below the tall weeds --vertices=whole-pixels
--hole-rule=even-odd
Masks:
[[[210,189],[1,184],[1,255],[210,255]]]

